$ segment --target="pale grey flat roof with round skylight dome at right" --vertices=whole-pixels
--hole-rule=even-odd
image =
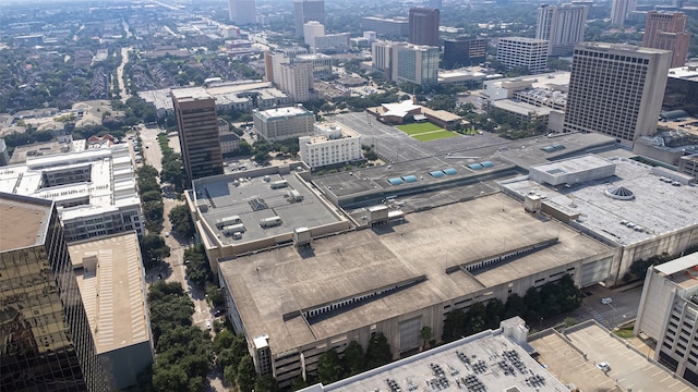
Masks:
[[[631,159],[611,157],[610,160],[616,166],[615,175],[571,187],[552,187],[527,179],[507,181],[501,186],[521,197],[539,195],[544,204],[578,212],[580,218],[575,224],[621,245],[696,225],[697,187],[662,182],[660,175],[652,174],[651,167]],[[605,195],[606,189],[617,186],[631,191],[635,198],[616,200]],[[639,225],[642,231],[622,222]]]

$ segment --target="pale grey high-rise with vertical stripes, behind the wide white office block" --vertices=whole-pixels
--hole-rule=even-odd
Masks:
[[[570,54],[575,44],[585,40],[588,7],[564,4],[538,8],[535,38],[545,39],[549,56]]]

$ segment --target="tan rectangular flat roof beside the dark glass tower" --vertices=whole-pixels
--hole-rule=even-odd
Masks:
[[[135,232],[68,245],[97,354],[151,340],[145,272]],[[97,269],[85,268],[96,257]]]

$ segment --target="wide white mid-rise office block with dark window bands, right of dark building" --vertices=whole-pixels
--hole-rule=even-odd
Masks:
[[[526,37],[500,38],[497,60],[507,70],[522,66],[532,74],[541,73],[547,68],[547,40]]]

